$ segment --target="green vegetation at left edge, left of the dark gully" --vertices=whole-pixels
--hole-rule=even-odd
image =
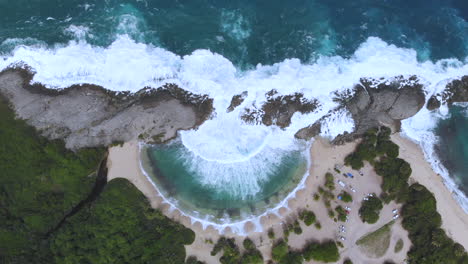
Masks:
[[[50,259],[47,232],[90,193],[104,149],[65,149],[16,120],[0,97],[0,262]]]

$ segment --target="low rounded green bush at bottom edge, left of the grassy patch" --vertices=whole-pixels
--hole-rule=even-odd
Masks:
[[[336,262],[340,259],[340,253],[334,241],[309,243],[304,248],[303,255],[304,259],[307,261]]]

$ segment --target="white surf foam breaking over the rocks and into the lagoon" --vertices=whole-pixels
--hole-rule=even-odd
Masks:
[[[246,71],[239,71],[228,59],[209,50],[196,50],[180,57],[162,48],[137,43],[127,35],[118,37],[106,48],[85,41],[71,41],[52,49],[20,45],[11,54],[2,56],[0,70],[20,61],[37,72],[33,82],[51,88],[92,83],[114,91],[135,92],[145,86],[175,83],[188,91],[208,94],[214,98],[215,116],[198,130],[181,132],[181,138],[196,156],[220,164],[245,161],[264,153],[262,150],[296,148],[294,133],[332,113],[337,107],[334,92],[353,87],[362,77],[417,75],[429,96],[443,90],[450,80],[468,74],[468,58],[418,62],[414,50],[388,45],[375,37],[362,43],[350,58],[322,56],[308,64],[286,59],[273,65],[259,64]],[[279,95],[303,93],[306,98],[318,99],[320,106],[309,114],[295,114],[286,129],[241,121],[242,109],[261,106],[266,100],[265,93],[272,89]],[[227,113],[232,96],[243,91],[248,91],[245,101]],[[435,142],[430,129],[435,119],[429,119],[428,115],[422,110],[403,122],[403,132],[423,145],[426,158],[436,169],[439,166],[435,165],[436,159],[428,154],[428,146]],[[328,137],[350,132],[354,127],[344,110],[333,112],[322,125],[322,135]],[[425,128],[421,129],[421,125]],[[446,179],[450,187],[449,178]],[[222,180],[211,180],[216,182],[225,184]]]

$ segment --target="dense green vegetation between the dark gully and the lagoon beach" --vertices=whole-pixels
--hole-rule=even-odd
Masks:
[[[92,207],[58,230],[51,251],[56,263],[183,263],[184,245],[194,239],[192,230],[152,209],[128,180],[114,179]]]

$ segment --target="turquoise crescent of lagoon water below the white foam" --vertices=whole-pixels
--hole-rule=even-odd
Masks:
[[[179,208],[192,215],[196,211],[202,215],[226,216],[231,220],[259,215],[277,206],[297,186],[307,168],[306,157],[301,151],[282,152],[275,158],[277,162],[254,161],[255,166],[268,166],[269,170],[265,177],[256,180],[258,189],[239,192],[242,187],[238,185],[249,186],[255,177],[238,180],[243,178],[240,175],[242,167],[250,166],[247,161],[233,164],[197,160],[180,141],[147,146],[142,155],[147,155],[144,167],[150,170],[160,191],[166,198],[176,200]],[[198,170],[194,164],[197,162],[207,164],[203,170]],[[220,178],[230,176],[227,174],[232,174],[234,179],[219,183]]]

